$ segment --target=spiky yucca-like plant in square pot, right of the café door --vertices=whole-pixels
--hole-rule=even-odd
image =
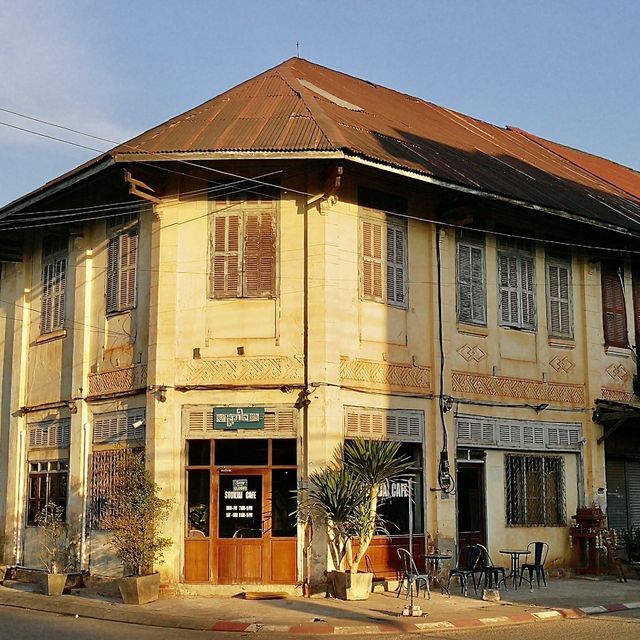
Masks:
[[[308,488],[298,491],[298,521],[319,521],[325,528],[334,566],[327,579],[338,598],[365,600],[371,593],[373,574],[359,568],[376,531],[384,530],[380,489],[412,469],[399,449],[398,442],[350,440],[332,465],[312,473]],[[354,539],[359,540],[355,556]]]

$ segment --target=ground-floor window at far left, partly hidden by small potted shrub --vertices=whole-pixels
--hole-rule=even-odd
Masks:
[[[37,527],[38,514],[49,503],[62,507],[62,521],[67,521],[67,502],[69,500],[69,460],[41,460],[29,461],[27,472],[27,508],[25,521],[27,527]],[[34,467],[36,467],[34,469]],[[44,467],[44,468],[41,468]],[[57,500],[52,499],[52,479],[59,477],[62,482],[57,486]],[[35,483],[35,490],[34,490]],[[43,489],[44,483],[44,491]],[[43,493],[44,495],[40,495]],[[35,495],[34,495],[35,494]]]

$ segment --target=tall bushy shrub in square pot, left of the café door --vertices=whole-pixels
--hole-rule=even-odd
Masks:
[[[111,513],[104,527],[122,561],[125,577],[118,582],[125,604],[145,604],[158,599],[160,574],[154,564],[162,562],[171,540],[160,535],[172,501],[159,497],[158,485],[147,471],[144,453],[128,450],[118,461]]]

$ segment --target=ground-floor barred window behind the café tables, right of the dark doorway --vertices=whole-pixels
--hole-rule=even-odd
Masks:
[[[507,525],[566,523],[562,458],[507,455],[505,475]]]

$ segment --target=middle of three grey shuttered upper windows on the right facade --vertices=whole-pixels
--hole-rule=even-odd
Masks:
[[[499,240],[498,288],[500,324],[536,328],[535,257],[528,242]]]

